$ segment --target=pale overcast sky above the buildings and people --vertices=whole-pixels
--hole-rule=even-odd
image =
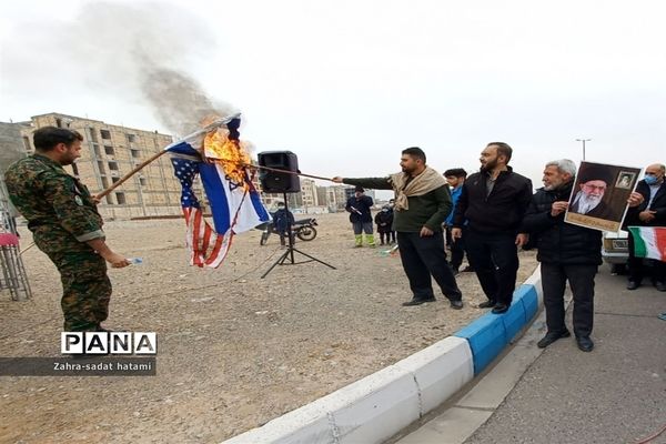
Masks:
[[[545,162],[582,159],[581,138],[588,161],[666,162],[665,17],[658,0],[10,2],[0,121],[174,133],[140,85],[159,64],[310,174],[385,175],[412,145],[474,171],[504,141],[541,186]]]

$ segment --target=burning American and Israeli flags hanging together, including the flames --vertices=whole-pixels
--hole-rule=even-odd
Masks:
[[[222,128],[224,124],[226,129]],[[191,265],[218,268],[235,234],[271,219],[252,184],[251,173],[243,167],[250,164],[250,157],[238,140],[239,124],[239,115],[218,120],[164,149],[172,154],[171,163],[182,185]],[[198,174],[211,204],[214,229],[203,218],[192,190]]]

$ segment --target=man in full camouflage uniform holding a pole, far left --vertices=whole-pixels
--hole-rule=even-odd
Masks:
[[[104,331],[113,268],[129,265],[104,242],[97,202],[63,165],[81,157],[80,133],[44,127],[33,134],[37,152],[6,173],[9,196],[28,220],[34,244],[51,259],[62,280],[64,331]]]

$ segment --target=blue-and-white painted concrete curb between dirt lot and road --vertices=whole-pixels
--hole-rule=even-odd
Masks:
[[[537,268],[516,289],[507,313],[486,313],[452,336],[224,443],[381,443],[483,372],[542,304]]]

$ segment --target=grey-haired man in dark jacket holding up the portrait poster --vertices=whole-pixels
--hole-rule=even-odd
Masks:
[[[574,296],[576,343],[583,352],[592,352],[594,278],[602,263],[602,232],[564,221],[575,174],[576,164],[568,159],[546,163],[544,188],[534,194],[523,228],[533,238],[541,262],[547,332],[537,346],[545,349],[561,337],[571,336],[564,322],[564,291],[568,281]],[[633,193],[628,203],[635,206],[642,200],[638,193]]]

